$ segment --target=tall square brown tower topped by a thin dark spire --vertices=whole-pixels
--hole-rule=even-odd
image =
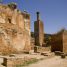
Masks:
[[[37,20],[34,22],[35,45],[43,46],[44,43],[43,22],[40,20],[39,12],[37,12],[36,14],[37,14]]]

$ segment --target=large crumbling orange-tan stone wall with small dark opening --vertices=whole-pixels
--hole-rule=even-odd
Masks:
[[[30,50],[30,15],[15,4],[0,4],[0,52]]]

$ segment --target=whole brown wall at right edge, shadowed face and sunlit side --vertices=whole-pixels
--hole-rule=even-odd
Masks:
[[[51,37],[51,51],[67,53],[67,31],[62,30]]]

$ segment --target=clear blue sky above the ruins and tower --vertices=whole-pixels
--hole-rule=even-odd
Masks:
[[[5,4],[9,2],[16,2],[21,11],[30,13],[31,31],[34,31],[37,11],[40,12],[45,33],[67,29],[67,0],[3,0]]]

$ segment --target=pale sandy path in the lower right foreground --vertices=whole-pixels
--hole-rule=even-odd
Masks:
[[[26,67],[67,67],[67,58],[61,59],[59,56],[55,56],[53,58],[44,59]]]

